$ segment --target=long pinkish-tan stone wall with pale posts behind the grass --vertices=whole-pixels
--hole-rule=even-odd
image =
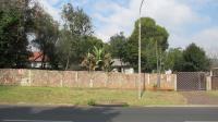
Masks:
[[[153,89],[157,74],[142,73],[142,88]],[[161,89],[174,89],[175,74],[160,75]],[[137,89],[137,74],[104,73],[86,71],[45,71],[45,70],[0,70],[0,85],[44,86],[44,87],[95,87]]]

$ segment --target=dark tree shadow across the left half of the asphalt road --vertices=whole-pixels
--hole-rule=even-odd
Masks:
[[[41,120],[72,122],[111,122],[119,115],[110,108],[77,107],[5,107],[0,108],[0,120]],[[15,122],[15,121],[14,121]]]

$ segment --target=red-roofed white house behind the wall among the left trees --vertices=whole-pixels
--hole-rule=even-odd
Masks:
[[[33,56],[28,59],[31,62],[31,68],[32,69],[40,69],[41,68],[41,62],[43,62],[43,52],[33,52]],[[45,69],[50,69],[50,64],[48,62],[48,57],[45,57],[45,62],[44,62],[44,68]]]

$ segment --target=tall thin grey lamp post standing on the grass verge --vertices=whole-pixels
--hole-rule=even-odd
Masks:
[[[141,17],[142,17],[142,7],[143,7],[144,0],[142,0],[141,5],[140,5],[140,22],[138,22],[138,99],[142,98],[142,80],[141,80]]]

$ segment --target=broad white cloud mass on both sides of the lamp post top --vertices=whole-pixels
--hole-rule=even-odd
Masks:
[[[129,7],[121,7],[114,2],[96,3],[96,9],[101,11],[113,10],[110,15],[100,13],[94,14],[94,17],[104,23],[104,26],[97,29],[97,35],[108,40],[110,36],[119,32],[124,32],[129,36],[134,27],[134,21],[138,19],[138,8],[141,0],[131,0]],[[170,34],[173,34],[180,27],[197,22],[199,19],[191,7],[179,2],[178,0],[146,0],[142,10],[143,16],[150,16],[158,24],[167,27]],[[114,29],[111,27],[117,26]]]

